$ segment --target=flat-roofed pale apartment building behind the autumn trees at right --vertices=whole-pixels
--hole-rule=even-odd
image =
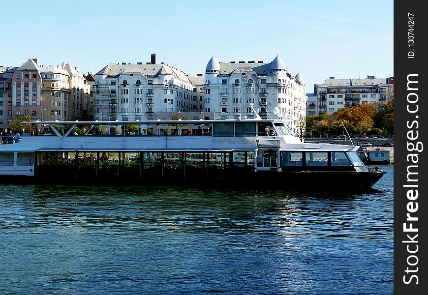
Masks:
[[[344,107],[359,104],[381,104],[394,99],[394,77],[378,79],[336,79],[330,77],[323,84],[314,85],[308,94],[306,115],[332,114]]]

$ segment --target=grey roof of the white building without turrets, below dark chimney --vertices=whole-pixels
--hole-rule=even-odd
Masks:
[[[108,64],[95,75],[108,75],[114,77],[122,74],[125,70],[132,69],[134,73],[136,70],[140,70],[143,75],[154,77],[158,75],[159,70],[164,65],[165,64]],[[190,83],[189,79],[187,78],[186,74],[183,73],[183,71],[169,65],[166,66],[168,66],[169,69],[164,68],[164,71],[170,74],[174,73],[175,76],[179,79]],[[162,70],[160,71],[160,73],[162,73]]]

